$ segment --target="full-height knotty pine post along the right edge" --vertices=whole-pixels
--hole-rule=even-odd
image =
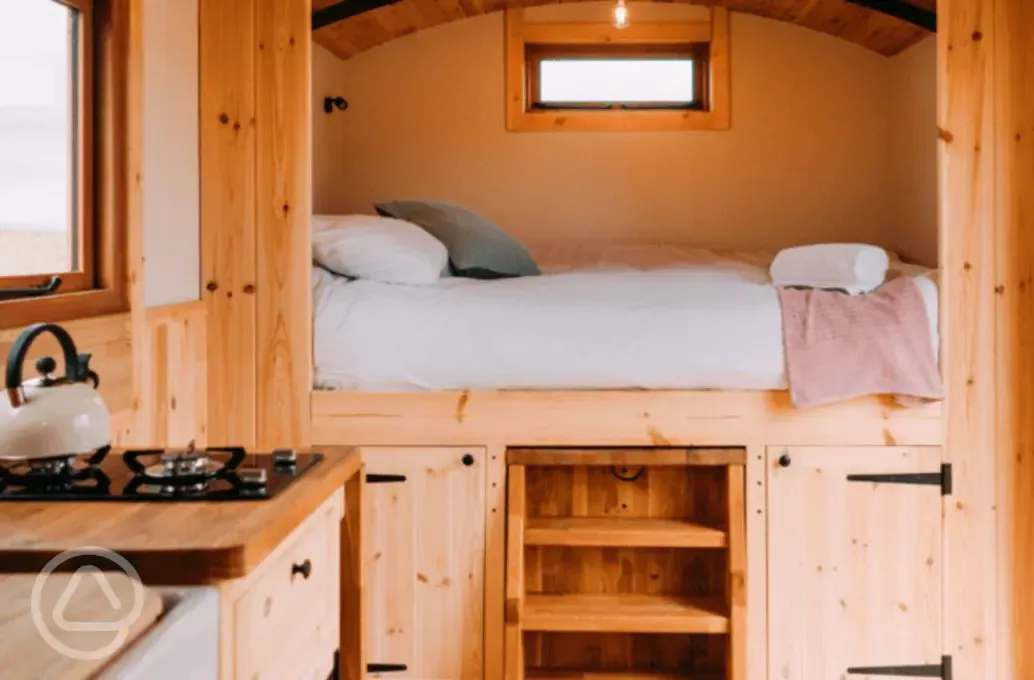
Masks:
[[[939,4],[945,653],[1034,673],[1034,24],[1031,0]]]

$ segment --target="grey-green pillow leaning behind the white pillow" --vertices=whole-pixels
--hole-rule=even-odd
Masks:
[[[419,224],[444,243],[456,276],[498,279],[541,273],[531,254],[516,239],[461,206],[437,200],[393,200],[373,207],[384,217]]]

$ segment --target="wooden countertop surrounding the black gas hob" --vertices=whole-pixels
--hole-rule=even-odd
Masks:
[[[126,558],[145,583],[243,577],[362,467],[357,449],[320,451],[323,462],[269,500],[0,502],[0,571],[38,571],[66,550],[98,546]]]

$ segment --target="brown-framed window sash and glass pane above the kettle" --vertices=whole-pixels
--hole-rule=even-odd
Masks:
[[[92,0],[0,1],[0,293],[96,287]]]

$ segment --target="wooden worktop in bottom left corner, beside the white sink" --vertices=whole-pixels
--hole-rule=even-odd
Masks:
[[[48,640],[37,627],[33,613],[35,584],[35,576],[0,576],[0,678],[92,678],[161,615],[161,596],[124,574],[110,573],[102,577],[89,573],[52,574],[39,589],[38,622],[51,637]],[[109,599],[112,595],[117,600],[114,606]],[[136,597],[141,598],[140,615],[126,620],[132,615]],[[124,622],[125,639],[118,640],[117,627],[66,630],[55,623],[57,616],[84,626],[89,623],[118,626]],[[100,658],[74,658],[62,653],[59,645],[86,654],[112,649]]]

